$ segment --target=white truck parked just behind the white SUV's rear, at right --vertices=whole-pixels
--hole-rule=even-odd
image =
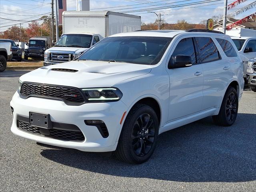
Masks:
[[[256,57],[256,37],[231,37],[238,49],[244,64],[244,78],[246,78],[246,70],[248,61]]]

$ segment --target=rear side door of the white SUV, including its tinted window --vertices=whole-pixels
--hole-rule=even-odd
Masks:
[[[204,73],[202,110],[219,108],[226,84],[232,76],[230,61],[224,56],[222,58],[220,52],[223,51],[215,38],[196,37],[195,42]]]

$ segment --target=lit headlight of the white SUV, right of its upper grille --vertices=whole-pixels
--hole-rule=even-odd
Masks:
[[[82,92],[89,102],[118,101],[123,94],[118,88],[82,88]]]

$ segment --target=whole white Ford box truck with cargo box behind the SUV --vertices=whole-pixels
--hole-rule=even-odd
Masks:
[[[111,11],[64,11],[63,34],[44,52],[44,66],[71,61],[103,38],[140,30],[140,16]]]

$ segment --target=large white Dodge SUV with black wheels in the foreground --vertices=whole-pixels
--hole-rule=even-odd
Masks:
[[[229,36],[198,31],[116,34],[76,60],[24,74],[10,102],[12,132],[142,163],[165,131],[207,116],[232,125],[242,60]]]

